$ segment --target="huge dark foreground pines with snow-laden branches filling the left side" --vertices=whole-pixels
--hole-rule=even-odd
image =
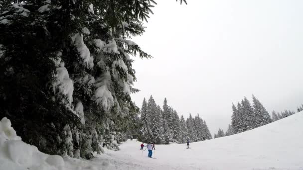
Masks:
[[[151,57],[129,39],[154,3],[0,1],[0,117],[47,154],[118,149],[139,110],[130,55]]]

